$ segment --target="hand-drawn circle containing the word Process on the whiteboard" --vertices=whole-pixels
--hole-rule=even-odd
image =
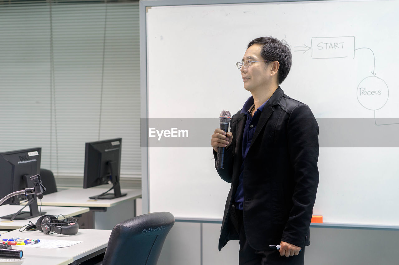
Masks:
[[[369,110],[381,109],[388,101],[387,84],[377,76],[368,76],[361,80],[356,96],[360,105]]]

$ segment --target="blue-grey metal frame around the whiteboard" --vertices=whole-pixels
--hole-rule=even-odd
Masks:
[[[146,14],[147,8],[155,6],[190,6],[190,5],[220,5],[220,4],[254,4],[254,3],[279,3],[279,2],[341,2],[342,0],[251,0],[245,2],[243,0],[140,0],[139,2],[139,21],[140,21],[140,118],[142,123],[140,126],[146,128],[146,118],[148,118],[148,91],[147,91],[147,25]],[[353,0],[353,1],[369,1],[369,0]],[[147,145],[148,131],[140,130],[144,134],[140,136],[141,144]],[[148,148],[142,147],[141,171],[142,171],[142,212],[150,212],[150,194],[149,194],[149,176],[148,176]],[[221,223],[221,219],[217,218],[185,218],[176,217],[178,222],[200,222],[200,223]],[[344,224],[344,223],[312,223],[311,227],[318,228],[348,228],[348,229],[367,229],[367,230],[399,230],[399,226],[389,225],[365,225],[365,224]]]

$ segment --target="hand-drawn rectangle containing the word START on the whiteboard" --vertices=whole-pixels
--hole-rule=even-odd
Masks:
[[[354,58],[355,37],[316,37],[312,38],[312,58]]]

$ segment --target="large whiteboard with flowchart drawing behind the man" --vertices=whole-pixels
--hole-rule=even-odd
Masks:
[[[331,128],[320,126],[314,214],[330,223],[397,225],[397,10],[397,0],[148,8],[146,36],[141,36],[146,38],[141,51],[146,55],[146,117],[170,123],[208,119],[190,127],[195,136],[185,142],[188,147],[161,147],[162,141],[155,141],[148,148],[143,180],[148,180],[150,212],[221,220],[230,184],[214,168],[215,118],[222,110],[236,113],[250,96],[235,67],[249,41],[273,36],[291,46],[292,68],[280,85],[287,95],[309,105],[321,123],[336,119],[351,127],[364,122],[352,132],[365,137],[359,145],[329,142]],[[197,130],[202,133],[192,132]],[[345,134],[348,128],[334,130]],[[196,141],[199,147],[191,144]]]

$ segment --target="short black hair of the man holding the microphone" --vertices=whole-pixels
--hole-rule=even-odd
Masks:
[[[279,84],[281,84],[291,69],[292,55],[290,46],[284,40],[280,41],[273,37],[260,37],[252,40],[247,48],[258,43],[263,45],[261,50],[263,60],[278,61],[280,63],[277,78]]]

